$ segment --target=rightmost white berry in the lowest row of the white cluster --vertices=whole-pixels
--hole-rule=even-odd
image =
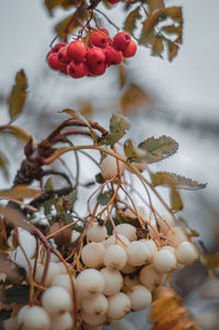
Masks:
[[[152,300],[150,291],[142,285],[132,286],[131,291],[128,293],[128,296],[130,298],[132,310],[145,309],[151,304]]]

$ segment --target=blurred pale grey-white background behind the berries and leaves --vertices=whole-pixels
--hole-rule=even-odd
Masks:
[[[165,55],[163,59],[152,57],[150,49],[138,47],[137,55],[126,64],[127,86],[137,87],[137,98],[134,96],[125,106],[122,96],[130,90],[128,87],[120,90],[116,67],[99,78],[79,80],[62,77],[48,68],[45,59],[55,36],[54,26],[67,15],[66,11],[56,9],[49,16],[42,0],[1,0],[1,125],[9,121],[7,99],[15,73],[24,69],[28,96],[16,125],[31,132],[37,140],[64,120],[58,111],[65,107],[81,110],[103,126],[108,125],[112,113],[123,113],[131,122],[129,136],[136,143],[149,136],[171,136],[180,144],[177,153],[152,164],[151,170],[173,171],[207,183],[203,191],[182,193],[184,209],[180,215],[200,234],[210,252],[218,252],[219,2],[166,0],[166,4],[183,7],[183,45],[172,62]],[[122,26],[120,4],[111,9],[107,15]],[[116,33],[104,19],[102,24],[112,35]],[[7,187],[11,185],[24,155],[22,146],[18,147],[18,141],[8,135],[0,136],[0,147],[10,161],[9,181],[0,177],[1,187]],[[84,175],[87,171],[82,166]],[[166,193],[164,189],[161,192]],[[189,283],[184,278],[189,278]],[[206,281],[206,273],[199,264],[175,275],[175,283],[201,328],[219,329],[219,285]],[[114,327],[143,329],[146,317],[142,312],[128,319],[132,326],[125,321],[125,325]]]

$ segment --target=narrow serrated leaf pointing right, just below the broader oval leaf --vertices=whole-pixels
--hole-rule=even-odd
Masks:
[[[206,183],[198,183],[197,181],[194,181],[192,179],[170,172],[157,172],[154,174],[151,173],[151,180],[154,186],[170,186],[171,184],[173,184],[176,189],[184,189],[191,191],[196,191],[206,187]]]

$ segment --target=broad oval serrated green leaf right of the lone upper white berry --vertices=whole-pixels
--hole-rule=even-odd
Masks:
[[[138,147],[147,151],[143,159],[151,163],[174,155],[177,151],[178,144],[171,137],[163,135],[159,138],[150,137],[140,143]]]

